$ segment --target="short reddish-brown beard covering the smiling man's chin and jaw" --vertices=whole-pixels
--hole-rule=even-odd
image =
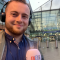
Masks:
[[[20,29],[18,29],[18,28],[13,28],[13,27],[9,27],[9,26],[6,26],[6,30],[8,31],[8,33],[9,34],[12,34],[12,35],[22,35],[24,32],[25,32],[25,28],[23,29],[23,28],[20,28]]]

